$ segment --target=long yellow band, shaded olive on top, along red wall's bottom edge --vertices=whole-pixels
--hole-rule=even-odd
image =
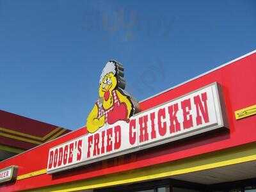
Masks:
[[[189,157],[179,161],[158,164],[155,166],[131,170],[129,172],[114,173],[108,175],[108,177],[101,176],[67,184],[49,186],[47,188],[33,189],[32,191],[79,191],[172,177],[173,175],[198,172],[221,166],[245,163],[248,161],[256,161],[255,150],[256,143],[251,143],[241,147],[230,148],[196,157]]]

